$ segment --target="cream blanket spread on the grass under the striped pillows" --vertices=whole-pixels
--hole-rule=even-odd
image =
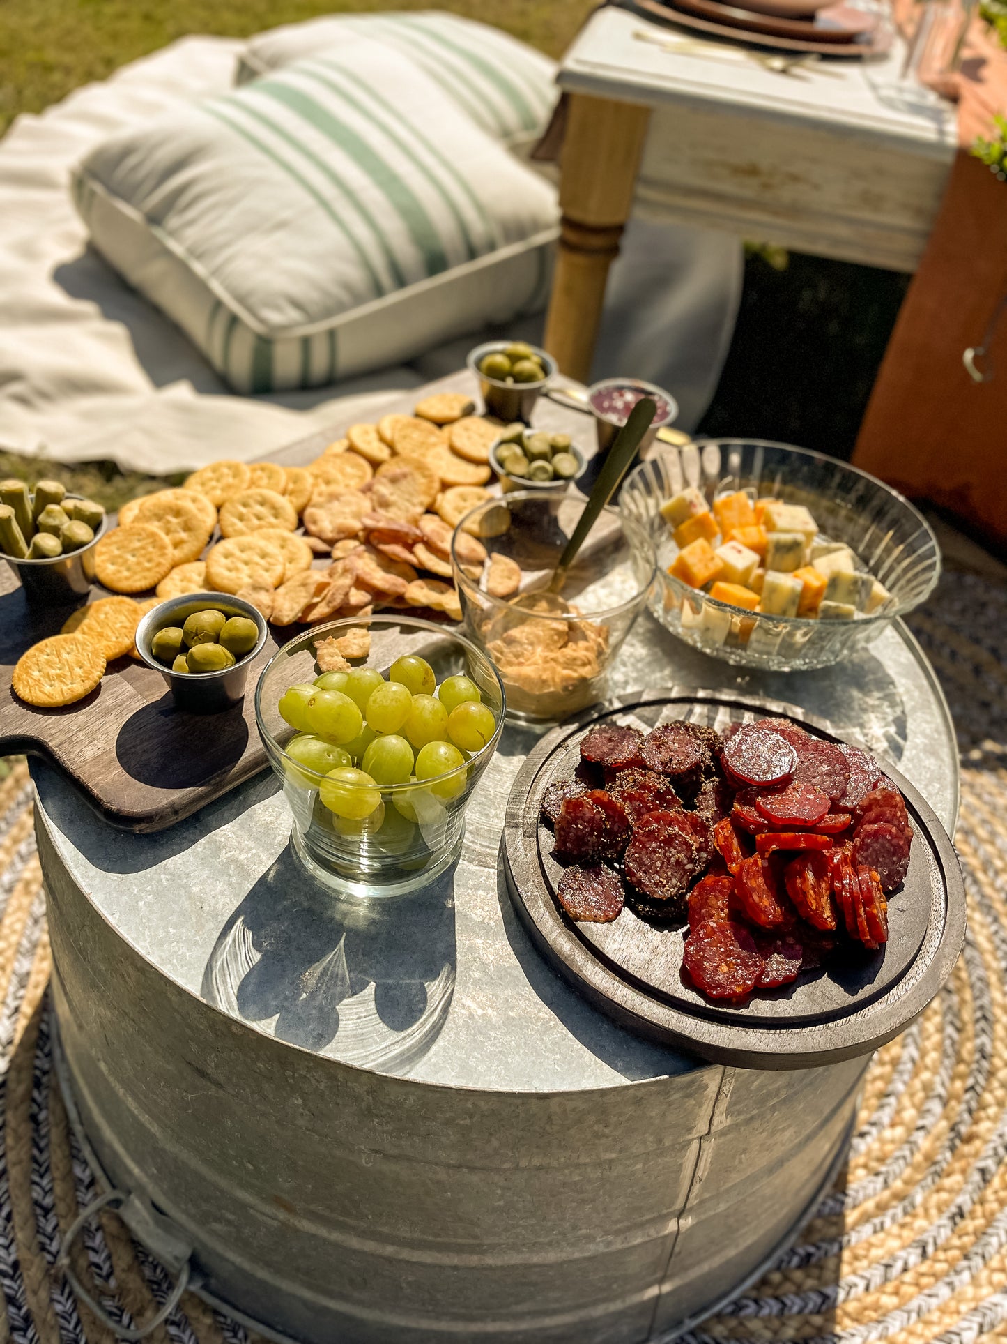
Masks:
[[[371,419],[397,391],[451,372],[471,339],[334,388],[243,398],[185,336],[86,246],[68,171],[115,132],[219,94],[242,43],[185,38],[89,85],[0,141],[0,448],[63,462],[110,458],[168,474],[267,454],[320,425]],[[670,387],[691,427],[733,331],[740,245],[631,223],[610,282],[595,376]],[[508,335],[534,339],[541,317]]]

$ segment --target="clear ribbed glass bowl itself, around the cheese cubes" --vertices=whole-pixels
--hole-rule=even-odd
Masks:
[[[753,489],[807,505],[819,532],[849,546],[892,599],[873,616],[851,621],[764,616],[716,602],[667,573],[678,547],[658,509],[686,485],[700,487],[710,503],[716,495]],[[658,621],[686,644],[738,667],[796,672],[850,659],[924,602],[941,569],[937,539],[897,491],[846,462],[787,444],[721,438],[662,450],[627,477],[619,508],[644,528],[658,551],[659,582],[650,597]],[[725,637],[717,634],[724,620],[705,620],[706,607],[730,614]]]

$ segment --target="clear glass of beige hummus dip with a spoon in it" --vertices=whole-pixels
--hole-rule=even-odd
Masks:
[[[509,720],[548,726],[603,700],[655,583],[646,531],[604,508],[563,590],[549,591],[585,503],[514,491],[466,513],[451,539],[465,629],[499,673]]]

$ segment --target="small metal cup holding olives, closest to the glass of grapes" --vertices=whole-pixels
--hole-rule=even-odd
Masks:
[[[223,612],[228,617],[246,616],[254,621],[259,632],[254,648],[232,667],[220,668],[219,672],[173,672],[164,663],[158,663],[153,655],[153,638],[157,632],[169,625],[184,625],[187,617],[205,612],[207,607]],[[187,714],[219,714],[238,704],[244,696],[248,668],[262,652],[267,634],[269,628],[262,612],[244,598],[231,597],[227,593],[184,593],[181,597],[169,597],[146,613],[137,626],[137,653],[149,668],[161,673],[175,698],[176,708]]]

